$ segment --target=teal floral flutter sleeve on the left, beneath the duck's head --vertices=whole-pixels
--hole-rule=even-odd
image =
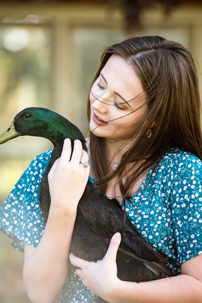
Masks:
[[[0,208],[0,230],[20,251],[24,251],[24,243],[36,247],[45,228],[39,205],[39,187],[51,152],[48,150],[32,160]]]

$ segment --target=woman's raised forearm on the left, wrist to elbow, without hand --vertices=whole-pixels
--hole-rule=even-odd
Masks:
[[[63,286],[74,221],[49,218],[37,248],[25,244],[23,279],[33,303],[52,302]]]

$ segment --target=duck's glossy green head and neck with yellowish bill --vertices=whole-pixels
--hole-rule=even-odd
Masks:
[[[85,139],[79,129],[63,116],[41,107],[29,107],[19,112],[11,126],[0,136],[0,144],[19,136],[43,137],[54,145],[65,138],[79,139],[85,147]]]

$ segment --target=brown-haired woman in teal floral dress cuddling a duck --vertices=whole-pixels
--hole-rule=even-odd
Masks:
[[[92,303],[93,294],[122,303],[202,302],[202,136],[190,53],[157,36],[107,48],[91,86],[88,118],[89,159],[76,140],[70,160],[66,139],[61,158],[49,172],[47,224],[38,207],[38,184],[51,151],[32,161],[2,206],[1,225],[9,236],[15,235],[13,245],[18,245],[16,237],[25,243],[23,278],[30,299],[52,302],[65,282],[63,303]],[[85,161],[90,166],[80,163]],[[89,174],[100,191],[117,197],[142,236],[167,257],[174,277],[142,283],[119,280],[120,234],[113,236],[97,263],[70,253],[77,267],[73,272],[69,248]],[[20,215],[7,211],[12,203]]]

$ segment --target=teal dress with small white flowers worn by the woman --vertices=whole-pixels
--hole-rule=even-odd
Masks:
[[[45,222],[38,192],[51,153],[48,150],[32,160],[0,208],[0,229],[21,251],[24,243],[37,247],[43,235]],[[202,252],[201,191],[201,161],[188,151],[171,148],[148,171],[132,197],[140,217],[126,203],[128,218],[142,237],[167,258],[174,275],[180,274],[183,262]],[[60,303],[93,303],[94,298],[70,264]]]

